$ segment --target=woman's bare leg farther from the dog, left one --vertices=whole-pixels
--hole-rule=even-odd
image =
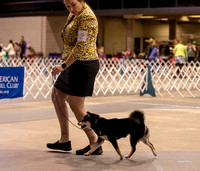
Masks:
[[[69,118],[66,98],[67,94],[61,92],[57,88],[53,88],[52,102],[60,123],[61,137],[59,142],[64,143],[69,141],[69,122],[66,118]]]

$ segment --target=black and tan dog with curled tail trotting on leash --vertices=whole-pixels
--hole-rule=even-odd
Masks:
[[[78,125],[84,130],[93,129],[99,137],[96,144],[84,154],[86,156],[100,147],[104,140],[108,140],[119,154],[120,159],[123,159],[117,139],[126,137],[128,134],[130,134],[132,150],[126,158],[130,158],[133,155],[136,150],[136,144],[140,140],[151,148],[154,156],[157,155],[153,144],[149,142],[149,129],[144,123],[144,114],[141,111],[134,111],[129,118],[123,119],[105,119],[97,114],[87,112],[87,115]]]

